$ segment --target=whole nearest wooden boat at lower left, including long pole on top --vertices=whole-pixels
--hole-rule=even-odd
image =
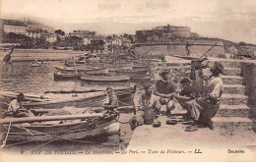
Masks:
[[[7,141],[63,141],[117,134],[119,132],[117,117],[118,114],[93,113],[12,118]],[[3,139],[6,138],[9,123],[10,118],[1,120],[6,130]]]

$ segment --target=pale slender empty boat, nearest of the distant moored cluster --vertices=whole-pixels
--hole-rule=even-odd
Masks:
[[[128,82],[130,76],[92,76],[92,75],[82,75],[82,81],[87,82]]]

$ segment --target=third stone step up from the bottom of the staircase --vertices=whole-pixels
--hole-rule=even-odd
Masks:
[[[240,105],[247,104],[248,97],[244,94],[223,94],[221,98],[222,104]]]

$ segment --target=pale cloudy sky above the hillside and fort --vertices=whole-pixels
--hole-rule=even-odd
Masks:
[[[256,0],[0,0],[3,19],[30,18],[66,32],[135,34],[158,26],[256,44]]]

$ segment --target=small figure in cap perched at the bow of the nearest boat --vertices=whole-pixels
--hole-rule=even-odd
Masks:
[[[106,92],[108,95],[108,103],[104,104],[104,108],[109,111],[117,112],[117,107],[118,107],[118,98],[113,91],[112,87],[107,86],[106,87]]]

